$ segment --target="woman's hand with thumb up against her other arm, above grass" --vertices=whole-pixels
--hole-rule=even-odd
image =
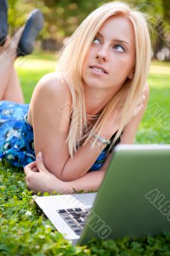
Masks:
[[[26,174],[27,187],[35,193],[38,191],[42,193],[52,193],[54,190],[58,193],[64,191],[64,182],[56,178],[56,176],[45,168],[42,152],[38,153],[35,162],[27,164],[24,167],[24,172]]]

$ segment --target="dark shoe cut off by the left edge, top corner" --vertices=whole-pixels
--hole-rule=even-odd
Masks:
[[[7,0],[0,1],[0,45],[3,46],[8,34],[8,22],[7,22],[8,4]]]

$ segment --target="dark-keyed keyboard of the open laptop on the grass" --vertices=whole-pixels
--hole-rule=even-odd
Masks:
[[[66,223],[72,228],[76,235],[81,235],[82,229],[86,218],[91,208],[71,208],[57,210],[59,215],[66,221]]]

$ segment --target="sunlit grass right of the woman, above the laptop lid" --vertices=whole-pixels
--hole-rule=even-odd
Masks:
[[[136,142],[168,144],[170,143],[170,63],[154,62],[150,68],[148,84],[150,86],[148,111],[139,125]],[[153,104],[158,106],[157,114],[150,109]],[[169,120],[167,125],[165,120]]]

